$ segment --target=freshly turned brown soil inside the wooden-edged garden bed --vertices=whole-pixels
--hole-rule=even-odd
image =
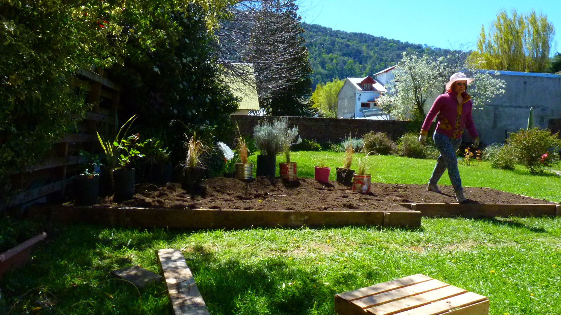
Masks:
[[[234,178],[212,178],[202,183],[203,196],[191,194],[180,184],[137,184],[135,196],[123,203],[105,198],[95,206],[153,207],[173,209],[244,209],[244,210],[325,210],[325,211],[407,211],[398,202],[456,203],[452,186],[440,186],[442,194],[429,192],[425,185],[373,183],[369,194],[352,191],[337,182],[321,184],[311,178],[287,183],[259,177],[249,183]],[[491,188],[465,187],[472,203],[553,203]],[[101,200],[100,200],[101,201]]]

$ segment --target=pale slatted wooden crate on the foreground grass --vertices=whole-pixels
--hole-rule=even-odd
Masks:
[[[489,299],[416,274],[335,295],[339,315],[488,315]]]

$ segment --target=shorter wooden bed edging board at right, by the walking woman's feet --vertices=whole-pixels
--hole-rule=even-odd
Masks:
[[[532,205],[519,203],[398,203],[407,209],[420,211],[426,217],[467,217],[479,219],[482,217],[509,216],[555,216],[561,215],[561,206]]]

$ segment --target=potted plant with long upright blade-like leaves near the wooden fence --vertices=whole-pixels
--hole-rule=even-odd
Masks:
[[[119,128],[117,134],[113,137],[113,140],[107,140],[98,134],[98,140],[102,149],[105,153],[105,167],[101,169],[100,182],[102,188],[102,194],[104,196],[113,194],[113,170],[117,167],[119,163],[119,145],[121,143],[121,135],[127,135],[128,130],[131,128],[132,123],[136,120],[136,115],[132,115],[131,118]],[[124,131],[124,132],[123,132]]]

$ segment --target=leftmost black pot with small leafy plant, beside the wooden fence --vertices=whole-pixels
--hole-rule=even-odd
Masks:
[[[99,169],[101,163],[98,155],[80,151],[88,159],[84,173],[72,177],[72,195],[75,206],[91,206],[99,197]]]

